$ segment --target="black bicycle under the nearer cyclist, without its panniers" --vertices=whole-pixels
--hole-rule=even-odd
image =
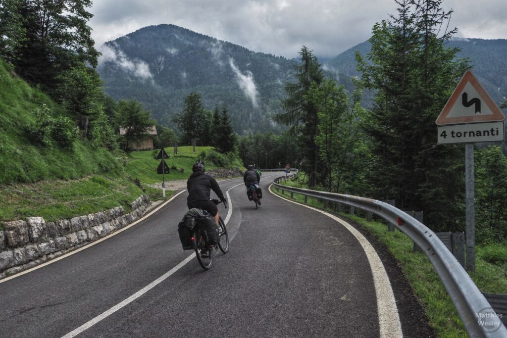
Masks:
[[[216,205],[222,203],[221,201],[217,199],[211,200]],[[224,206],[227,209],[227,204],[225,201]],[[199,261],[199,264],[201,267],[203,267],[205,270],[208,270],[211,268],[211,264],[213,263],[213,256],[216,251],[220,248],[220,250],[223,253],[227,253],[229,251],[229,235],[227,234],[227,228],[225,226],[224,220],[222,217],[219,217],[219,242],[218,244],[213,245],[211,248],[209,248],[205,241],[204,236],[201,234],[201,231],[199,230],[199,227],[194,227],[193,233],[192,233],[192,247],[195,250],[195,255],[197,256],[197,260]]]

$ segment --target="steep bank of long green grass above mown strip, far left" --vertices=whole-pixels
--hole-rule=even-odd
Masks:
[[[12,67],[0,60],[0,185],[73,179],[119,167],[115,153],[92,148],[81,140],[75,142],[73,151],[32,144],[26,128],[42,105],[54,116],[66,115],[62,107],[18,78]]]

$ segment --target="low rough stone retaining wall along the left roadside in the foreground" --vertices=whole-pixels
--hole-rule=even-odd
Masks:
[[[132,212],[123,207],[72,219],[46,222],[42,217],[4,222],[0,230],[0,278],[37,266],[102,238],[139,218],[150,198],[139,196]]]

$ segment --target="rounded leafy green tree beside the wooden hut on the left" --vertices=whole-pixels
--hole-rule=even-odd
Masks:
[[[125,134],[122,135],[120,142],[124,151],[130,152],[132,146],[139,143],[147,131],[155,125],[155,121],[150,119],[150,115],[151,112],[144,110],[136,100],[118,101],[116,124],[125,129]]]

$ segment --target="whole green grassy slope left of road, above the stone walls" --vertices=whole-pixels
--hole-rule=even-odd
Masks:
[[[152,152],[126,155],[82,141],[76,141],[73,151],[30,143],[25,127],[34,122],[33,111],[43,104],[55,116],[65,115],[64,109],[28,86],[0,60],[0,230],[3,221],[31,216],[54,221],[117,206],[129,211],[130,203],[141,194],[162,199],[161,191],[143,184],[143,192],[132,182],[135,178],[141,184],[162,181],[162,175],[156,173],[160,161],[153,159]],[[166,162],[184,171],[171,170],[166,180],[187,179],[195,160],[210,147],[197,147],[197,154],[192,154],[190,147],[178,150],[179,154]],[[171,148],[166,151],[172,154]],[[231,166],[237,166],[238,161]],[[206,166],[214,167],[211,162]],[[167,192],[166,198],[171,195]]]

